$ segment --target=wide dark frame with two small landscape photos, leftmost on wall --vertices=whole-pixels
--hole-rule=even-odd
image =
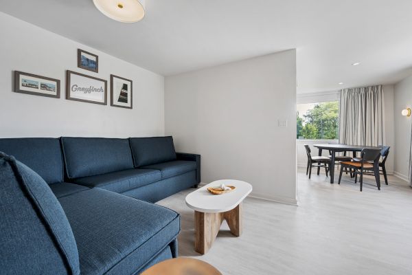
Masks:
[[[14,71],[14,92],[46,96],[48,98],[60,98],[60,80]]]

